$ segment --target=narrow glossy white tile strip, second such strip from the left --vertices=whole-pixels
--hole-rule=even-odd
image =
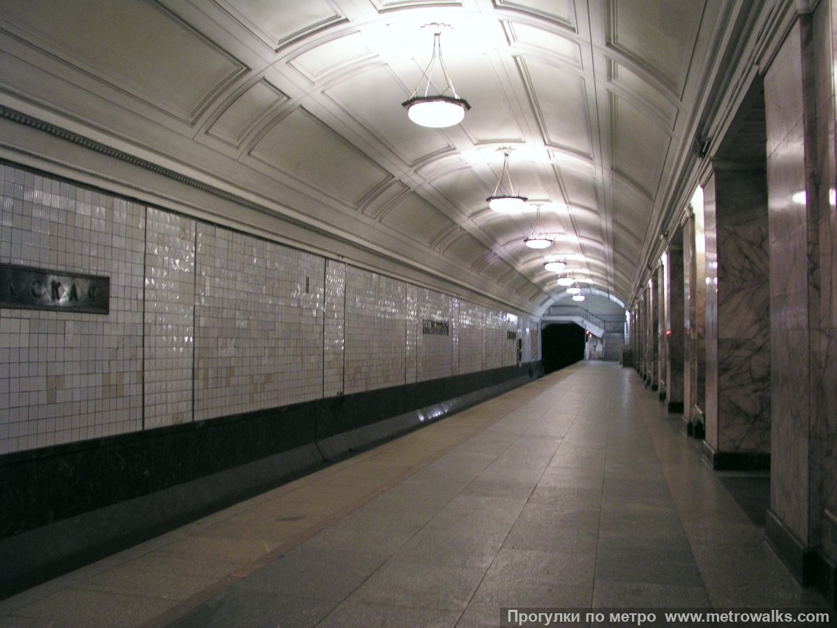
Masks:
[[[326,260],[326,309],[323,337],[323,396],[343,394],[346,348],[346,264]]]

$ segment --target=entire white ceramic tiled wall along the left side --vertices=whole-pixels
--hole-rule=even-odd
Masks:
[[[0,261],[110,277],[109,316],[0,309],[0,453],[516,362],[505,312],[23,169],[0,185]]]

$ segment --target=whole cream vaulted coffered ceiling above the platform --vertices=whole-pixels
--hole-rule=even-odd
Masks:
[[[747,6],[0,0],[0,106],[246,199],[233,224],[272,214],[384,270],[540,313],[563,291],[547,254],[629,301],[691,195],[684,173]],[[444,61],[471,106],[458,126],[416,126],[400,106],[429,62],[427,23],[450,27]],[[501,147],[522,214],[485,201]],[[546,252],[523,243],[537,205]]]

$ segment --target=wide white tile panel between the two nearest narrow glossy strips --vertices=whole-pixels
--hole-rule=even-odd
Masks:
[[[322,394],[325,260],[198,224],[195,419]]]

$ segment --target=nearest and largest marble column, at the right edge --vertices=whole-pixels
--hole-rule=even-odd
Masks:
[[[837,580],[834,0],[800,15],[764,75],[770,229],[766,533],[803,583]]]

